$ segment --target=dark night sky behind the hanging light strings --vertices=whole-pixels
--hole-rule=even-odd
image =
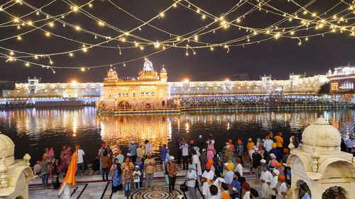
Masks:
[[[111,1],[143,21],[147,21],[173,4],[173,1],[168,0]],[[309,2],[299,0],[296,1],[301,5],[305,5]],[[4,4],[6,2],[7,1],[5,0],[1,0],[0,4]],[[50,2],[50,0],[26,1],[26,3],[31,4],[36,8],[39,8],[44,4],[48,4],[48,2]],[[50,6],[41,9],[41,11],[49,13],[50,15],[65,13],[70,11],[70,6],[65,4],[65,2],[69,3],[70,1],[55,1]],[[71,2],[77,6],[80,6],[81,4],[84,4],[84,2],[88,1]],[[205,11],[214,14],[214,16],[221,16],[222,13],[225,13],[232,6],[238,3],[238,1],[230,0],[199,0],[191,2]],[[250,0],[250,2],[257,4],[256,1]],[[339,1],[335,0],[316,1],[315,4],[308,7],[308,10],[320,14],[338,2]],[[351,3],[349,0],[346,2]],[[116,28],[128,31],[138,25],[141,25],[141,22],[131,16],[128,16],[118,8],[115,8],[107,0],[95,0],[92,4],[92,8],[84,6],[83,10],[91,13],[92,16],[102,19],[102,21],[114,25]],[[182,4],[188,5],[186,1],[182,1]],[[298,8],[292,2],[285,0],[270,1],[270,4],[275,6],[275,8],[279,8],[280,10],[288,13],[293,13]],[[250,4],[245,4],[229,14],[229,16],[226,16],[226,20],[231,21],[239,18],[251,8],[252,6]],[[329,11],[329,13],[327,13],[324,17],[331,17],[334,13],[342,11],[345,8],[349,8],[349,6],[346,4],[339,4],[337,8]],[[25,4],[16,4],[11,6],[11,8],[6,9],[6,11],[11,13],[13,16],[23,16],[23,14],[29,13],[33,10],[28,8]],[[346,11],[346,13],[349,12],[351,11]],[[213,21],[212,19],[207,18],[202,20],[201,16],[201,14],[190,11],[183,6],[178,5],[176,8],[171,8],[169,11],[165,12],[165,16],[163,18],[155,19],[151,22],[151,24],[170,33],[182,35]],[[300,13],[299,16],[302,16],[302,13]],[[312,18],[310,14],[302,17]],[[354,17],[354,15],[348,17]],[[33,13],[24,17],[23,20],[35,21],[41,18],[45,18],[45,16],[43,14],[36,16],[35,13]],[[242,21],[239,25],[249,26],[251,28],[265,28],[268,25],[279,21],[281,18],[282,17],[275,16],[272,13],[256,10],[249,13],[249,15],[245,16],[245,18],[241,18]],[[13,18],[11,16],[0,11],[0,23],[5,23],[7,21],[11,21],[12,19]],[[109,35],[111,37],[119,35],[119,33],[115,30],[107,28],[106,25],[104,27],[100,27],[96,21],[84,16],[84,14],[80,12],[70,13],[70,15],[65,16],[63,20],[68,23],[72,23],[73,25],[80,25],[81,28],[95,33],[100,33],[102,35]],[[49,23],[50,21],[53,20],[35,23],[35,25],[43,25],[45,23]],[[9,24],[11,25],[14,23]],[[48,30],[53,34],[63,35],[73,40],[80,40],[92,44],[104,41],[104,39],[95,40],[94,35],[84,33],[84,31],[76,31],[74,28],[70,27],[63,28],[62,24],[59,22],[55,22],[54,24],[53,28],[45,25],[43,30]],[[348,21],[346,24],[351,24],[351,21]],[[217,23],[217,25],[219,25],[219,23]],[[217,25],[212,25],[210,28],[217,27]],[[300,21],[287,21],[280,26],[288,27],[293,25],[300,25]],[[17,29],[16,25],[10,27],[0,27],[0,40],[8,38],[12,35],[18,35],[19,33],[26,32],[32,28],[33,27],[28,27],[28,25],[23,27],[21,26],[20,30]],[[31,52],[38,55],[53,52],[66,52],[82,47],[82,44],[80,43],[58,38],[55,37],[55,35],[46,37],[43,30],[35,30],[32,33],[22,35],[21,41],[18,41],[16,38],[0,41],[0,47],[23,52]],[[324,28],[323,30],[314,30],[313,28],[312,30],[302,31],[299,35],[312,35],[328,30],[329,28]],[[136,30],[131,34],[153,41],[171,39],[170,35],[161,33],[148,25],[143,26],[141,31]],[[298,33],[296,33],[296,35],[297,34]],[[219,43],[233,38],[239,38],[243,35],[246,35],[245,30],[239,30],[235,27],[227,29],[221,28],[216,30],[216,33],[208,33],[199,37],[199,41]],[[260,35],[256,36],[256,38],[252,38],[251,40],[261,40],[265,37],[266,35]],[[136,38],[131,36],[126,37],[126,39],[132,42],[134,40],[138,42]],[[246,40],[242,42],[246,42]],[[299,41],[297,39],[292,38],[279,38],[278,40],[271,39],[258,44],[245,45],[244,47],[230,47],[229,53],[226,52],[224,47],[214,47],[213,51],[209,50],[209,48],[197,49],[195,50],[197,53],[196,55],[192,55],[192,51],[189,50],[189,56],[185,56],[185,49],[170,48],[148,58],[153,62],[153,67],[157,70],[160,70],[163,64],[165,65],[165,69],[168,71],[168,81],[182,81],[185,78],[195,81],[224,80],[232,79],[232,74],[238,73],[248,73],[250,79],[258,79],[258,76],[263,74],[272,74],[273,79],[288,79],[288,74],[290,74],[290,72],[307,72],[307,75],[324,74],[329,68],[346,65],[348,62],[350,64],[355,63],[355,37],[351,37],[349,32],[339,33],[338,31],[338,33],[329,33],[324,36],[320,35],[312,37],[307,41],[302,39],[302,45],[298,45],[298,42]],[[188,42],[183,42],[182,46],[185,46],[187,43]],[[105,45],[112,47],[117,47],[117,45],[120,45],[120,47],[131,46],[128,42],[121,41],[111,41]],[[190,41],[189,45],[195,46],[198,44]],[[55,74],[53,74],[50,69],[43,69],[42,67],[36,67],[34,65],[25,67],[23,62],[5,62],[6,58],[0,58],[0,80],[23,82],[26,81],[29,76],[36,76],[38,78],[42,78],[43,82],[67,82],[72,79],[76,79],[80,82],[102,81],[109,67],[90,69],[86,72],[80,72],[80,67],[124,62],[129,59],[148,55],[155,51],[157,50],[153,47],[153,45],[151,45],[146,46],[143,51],[138,48],[122,49],[122,55],[119,55],[118,49],[94,47],[89,49],[88,52],[75,52],[74,57],[70,57],[68,54],[50,56],[53,60],[53,66],[78,67],[78,69],[55,69]],[[9,55],[8,50],[0,49],[0,52]],[[20,55],[20,53],[16,53],[14,56],[16,57]],[[35,60],[33,57],[28,57],[23,59],[28,62],[38,62],[41,64],[48,64],[49,62],[49,59],[47,58]],[[126,67],[124,67],[123,64],[114,67],[116,67],[116,71],[119,76],[138,76],[138,70],[143,68],[143,62],[144,59],[139,59],[134,62],[127,62]]]

